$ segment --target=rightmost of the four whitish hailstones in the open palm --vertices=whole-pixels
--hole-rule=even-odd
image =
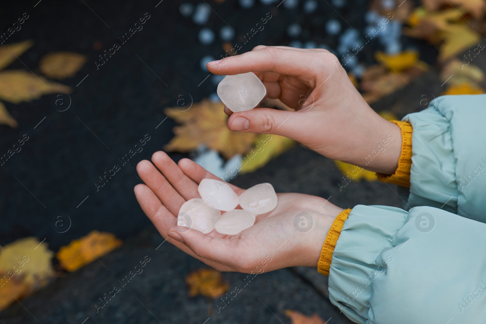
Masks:
[[[269,183],[246,189],[240,196],[240,206],[254,215],[268,213],[277,207],[277,194]]]

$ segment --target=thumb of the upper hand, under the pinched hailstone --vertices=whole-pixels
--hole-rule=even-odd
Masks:
[[[232,114],[228,128],[236,132],[282,135],[292,139],[298,137],[302,113],[271,108],[255,108]]]

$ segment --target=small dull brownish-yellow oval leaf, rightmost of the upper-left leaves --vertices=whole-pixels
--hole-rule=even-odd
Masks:
[[[39,69],[50,78],[65,79],[73,77],[86,63],[86,55],[73,52],[55,52],[40,60]]]

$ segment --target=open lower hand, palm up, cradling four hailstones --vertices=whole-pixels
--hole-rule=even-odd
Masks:
[[[197,187],[202,179],[220,179],[189,159],[177,165],[164,152],[154,153],[152,162],[143,160],[137,165],[145,185],[134,190],[143,211],[164,239],[219,271],[316,267],[330,226],[343,210],[323,198],[279,193],[277,207],[258,215],[252,227],[237,235],[215,230],[205,235],[177,226],[179,208],[189,199],[200,198]],[[244,191],[229,186],[238,195]]]

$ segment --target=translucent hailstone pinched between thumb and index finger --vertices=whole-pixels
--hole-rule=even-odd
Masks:
[[[217,93],[232,112],[255,108],[265,97],[267,89],[253,73],[226,75],[219,83]]]

